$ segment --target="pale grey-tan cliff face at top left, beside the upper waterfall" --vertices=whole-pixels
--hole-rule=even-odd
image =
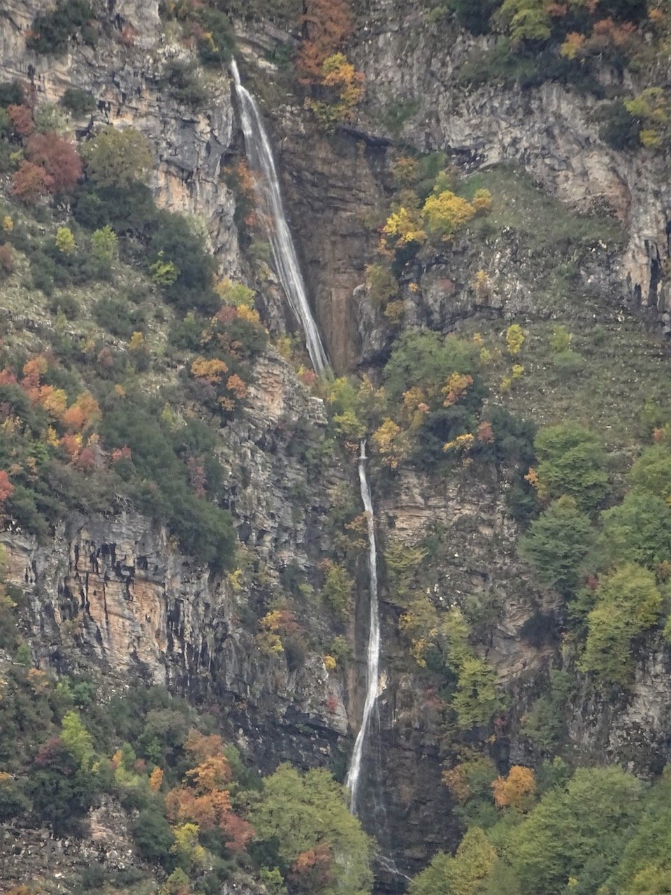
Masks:
[[[231,146],[234,109],[222,74],[208,82],[208,106],[183,107],[158,83],[166,65],[183,58],[182,47],[164,44],[156,2],[109,4],[97,47],[71,43],[62,56],[41,55],[25,46],[30,23],[43,4],[4,4],[0,12],[0,72],[4,81],[30,84],[38,102],[57,102],[68,87],[89,90],[98,110],[81,127],[132,124],[149,138],[158,165],[152,184],[159,204],[200,217],[228,275],[239,270],[234,197],[220,179]],[[124,32],[124,28],[130,29]]]

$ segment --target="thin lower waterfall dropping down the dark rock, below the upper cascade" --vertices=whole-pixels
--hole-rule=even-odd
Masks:
[[[363,744],[368,733],[370,714],[378,699],[378,670],[379,670],[379,609],[378,609],[378,548],[375,542],[375,516],[373,515],[373,500],[370,496],[370,485],[366,474],[366,442],[361,441],[361,454],[359,456],[359,482],[361,483],[361,500],[366,511],[366,524],[368,526],[368,565],[370,576],[370,628],[368,635],[368,652],[366,663],[366,701],[363,703],[363,717],[361,727],[354,741],[352,762],[347,771],[345,786],[350,793],[350,811],[356,814],[356,797],[361,778],[361,758],[363,757]]]

